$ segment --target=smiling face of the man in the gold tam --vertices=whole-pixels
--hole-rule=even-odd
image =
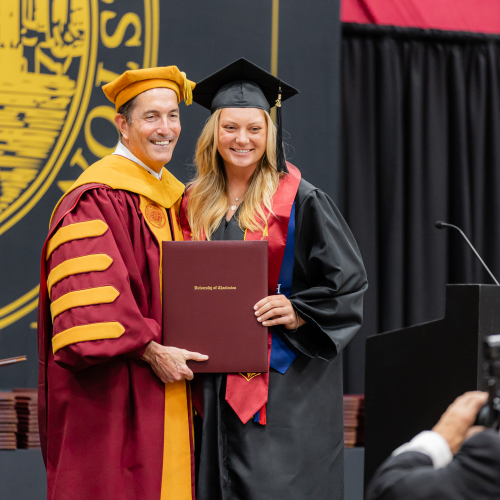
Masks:
[[[130,120],[117,114],[123,145],[156,172],[172,158],[181,133],[177,94],[166,88],[147,90],[134,100]]]

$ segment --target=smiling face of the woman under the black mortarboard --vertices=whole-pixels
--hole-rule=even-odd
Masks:
[[[226,169],[255,170],[264,156],[267,123],[257,108],[224,108],[219,119],[218,151]]]

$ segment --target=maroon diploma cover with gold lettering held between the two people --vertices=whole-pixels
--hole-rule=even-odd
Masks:
[[[163,344],[209,356],[195,373],[268,371],[267,241],[164,241]]]

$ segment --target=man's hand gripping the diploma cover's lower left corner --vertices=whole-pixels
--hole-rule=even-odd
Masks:
[[[192,380],[193,372],[186,365],[186,361],[206,361],[208,356],[177,347],[165,347],[151,341],[142,359],[151,365],[158,378],[166,384],[176,380]]]

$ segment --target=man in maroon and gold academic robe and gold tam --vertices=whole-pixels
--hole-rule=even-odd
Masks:
[[[39,423],[48,499],[193,498],[187,359],[161,345],[161,242],[184,186],[163,165],[194,83],[176,66],[103,90],[121,142],[54,211],[42,254]]]

